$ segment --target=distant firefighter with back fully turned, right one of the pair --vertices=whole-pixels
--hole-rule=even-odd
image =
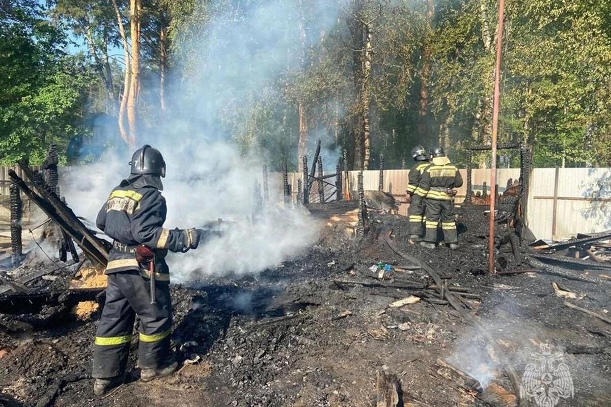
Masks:
[[[420,188],[426,190],[426,233],[423,247],[434,249],[437,243],[437,225],[441,220],[444,240],[450,249],[458,248],[456,215],[454,214],[455,188],[463,185],[463,177],[448,157],[444,149],[434,149],[433,162],[425,168],[420,180]]]

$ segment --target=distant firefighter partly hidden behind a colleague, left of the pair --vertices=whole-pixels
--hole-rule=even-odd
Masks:
[[[414,157],[415,164],[409,170],[409,184],[408,184],[408,215],[409,215],[409,239],[417,240],[423,237],[424,234],[424,199],[426,196],[426,190],[420,188],[420,178],[422,173],[429,164],[428,154],[423,146],[415,146],[412,149],[412,157]]]

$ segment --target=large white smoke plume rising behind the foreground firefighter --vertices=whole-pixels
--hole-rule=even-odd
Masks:
[[[263,185],[266,163],[257,154],[244,154],[256,151],[244,148],[249,135],[257,137],[257,129],[249,129],[254,108],[278,96],[272,89],[287,69],[299,68],[299,20],[307,23],[309,47],[331,29],[340,12],[336,2],[301,2],[304,9],[299,3],[218,2],[211,20],[192,25],[181,40],[185,52],[174,57],[188,74],[170,81],[169,113],[158,128],[139,134],[139,144],[158,148],[167,162],[164,226],[200,227],[218,218],[232,223],[224,237],[169,256],[174,282],[259,272],[295,256],[318,236],[304,211],[280,203],[277,177],[269,178],[272,198],[252,220],[255,179]],[[126,152],[111,149],[100,162],[69,171],[62,193],[76,214],[95,220],[110,190],[128,175],[128,160]]]

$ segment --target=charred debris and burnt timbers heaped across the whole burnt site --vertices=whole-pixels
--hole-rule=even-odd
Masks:
[[[533,242],[516,227],[514,201],[496,214],[490,274],[486,207],[456,209],[458,250],[426,250],[410,244],[405,218],[366,202],[361,177],[354,200],[306,204],[323,230],[298,258],[257,276],[173,285],[183,367],[141,383],[131,359],[130,380],[93,398],[100,311],[81,318],[73,308],[103,304],[104,290],[69,287],[84,267],[101,273],[108,245],[56,185],[21,168],[27,179],[13,172],[13,184],[59,230],[64,257],[13,253],[16,267],[2,273],[0,405],[538,406],[542,394],[555,397],[550,406],[611,405],[611,262],[601,243],[611,232]],[[570,374],[559,381],[560,364]]]

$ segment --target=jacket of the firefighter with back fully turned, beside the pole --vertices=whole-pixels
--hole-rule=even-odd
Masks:
[[[420,179],[420,189],[426,191],[426,198],[438,201],[452,201],[446,191],[463,185],[463,177],[448,157],[434,157],[425,168]]]

